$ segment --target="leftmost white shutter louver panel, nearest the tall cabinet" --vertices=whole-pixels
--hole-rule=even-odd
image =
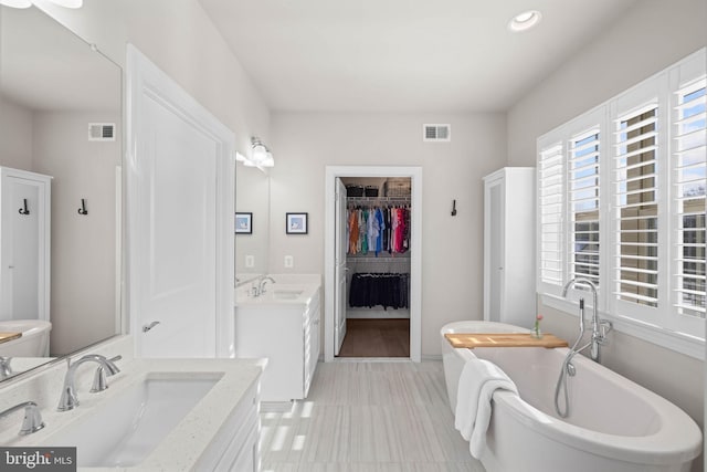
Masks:
[[[540,151],[538,192],[540,206],[540,281],[562,285],[562,201],[564,195],[562,145]]]

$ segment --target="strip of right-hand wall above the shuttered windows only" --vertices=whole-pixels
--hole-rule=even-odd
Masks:
[[[508,111],[508,165],[535,166],[536,139],[707,43],[705,0],[641,0]]]

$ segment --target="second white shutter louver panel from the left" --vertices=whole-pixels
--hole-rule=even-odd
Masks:
[[[573,137],[569,154],[570,274],[599,286],[599,126]]]

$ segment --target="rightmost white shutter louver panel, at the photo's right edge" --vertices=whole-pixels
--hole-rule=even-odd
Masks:
[[[678,92],[673,158],[676,306],[683,315],[705,317],[705,80]]]

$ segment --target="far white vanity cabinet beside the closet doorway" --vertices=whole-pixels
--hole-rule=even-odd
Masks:
[[[275,294],[278,290],[283,289],[277,284],[268,286]],[[271,293],[236,303],[236,357],[267,358],[261,380],[262,401],[307,397],[320,352],[319,296],[317,285],[304,290],[296,300],[272,298]]]

